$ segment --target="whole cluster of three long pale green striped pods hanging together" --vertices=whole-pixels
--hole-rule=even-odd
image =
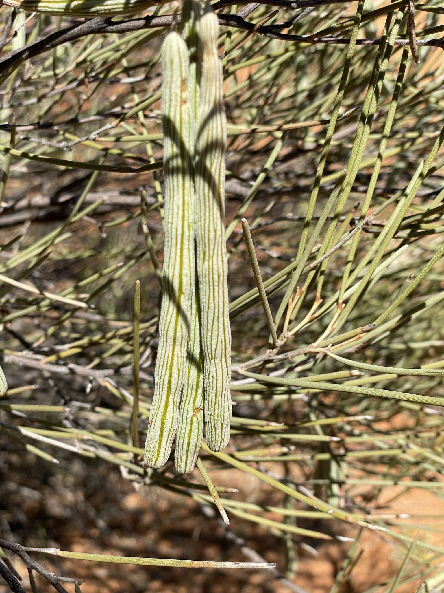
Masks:
[[[229,299],[225,242],[227,123],[218,18],[187,0],[181,33],[162,46],[165,174],[163,301],[155,393],[144,460],[161,467],[176,436],[175,464],[194,468],[205,435],[230,438]]]

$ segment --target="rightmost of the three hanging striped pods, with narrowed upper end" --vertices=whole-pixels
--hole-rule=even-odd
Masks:
[[[195,219],[204,353],[205,435],[213,451],[226,447],[231,420],[231,333],[224,203],[227,120],[222,65],[217,53],[218,29],[215,13],[205,12],[198,31],[200,103]]]

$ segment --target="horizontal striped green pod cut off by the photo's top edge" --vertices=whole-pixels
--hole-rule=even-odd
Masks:
[[[161,2],[162,0],[0,0],[0,5],[27,12],[88,18],[134,14]]]

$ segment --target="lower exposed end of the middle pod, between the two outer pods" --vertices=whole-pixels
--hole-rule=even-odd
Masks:
[[[175,466],[181,474],[194,470],[204,435],[204,380],[202,377],[199,286],[196,282],[191,303],[188,343],[188,369],[176,436]]]

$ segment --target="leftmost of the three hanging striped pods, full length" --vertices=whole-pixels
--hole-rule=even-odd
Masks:
[[[188,74],[188,48],[179,33],[172,31],[162,46],[165,249],[155,390],[144,453],[149,467],[162,467],[168,460],[186,372],[195,266]]]

